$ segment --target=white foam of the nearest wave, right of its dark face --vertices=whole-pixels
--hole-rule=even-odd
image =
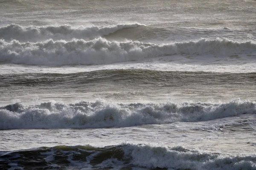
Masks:
[[[155,147],[128,144],[125,154],[131,163],[148,168],[195,169],[195,170],[241,170],[256,169],[256,156],[224,156],[218,153],[202,153],[183,147]]]

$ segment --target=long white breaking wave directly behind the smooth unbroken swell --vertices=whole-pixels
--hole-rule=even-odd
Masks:
[[[0,40],[0,62],[26,65],[109,64],[137,61],[171,55],[207,55],[227,57],[256,53],[253,42],[233,42],[226,39],[180,42],[157,45],[143,42],[111,42],[103,38],[93,40],[47,40],[19,42]]]

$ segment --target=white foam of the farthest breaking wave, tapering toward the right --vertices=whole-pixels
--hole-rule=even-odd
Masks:
[[[9,25],[0,28],[0,39],[11,41],[18,40],[20,42],[38,42],[45,40],[72,40],[77,39],[92,39],[95,37],[102,37],[104,35],[112,34],[115,31],[125,28],[136,28],[142,26],[138,23],[134,24],[120,24],[116,26],[105,27],[84,27],[73,28],[72,26],[29,26],[23,27],[19,25]]]

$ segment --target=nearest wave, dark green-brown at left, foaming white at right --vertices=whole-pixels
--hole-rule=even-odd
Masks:
[[[133,169],[168,168],[175,170],[256,170],[256,156],[225,156],[202,153],[184,147],[154,147],[122,144],[103,148],[85,146],[41,147],[1,152],[0,167],[24,169]],[[36,161],[31,161],[36,160]],[[10,164],[9,162],[12,162]]]

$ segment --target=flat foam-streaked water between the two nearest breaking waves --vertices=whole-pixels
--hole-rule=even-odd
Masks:
[[[1,131],[3,143],[0,144],[0,150],[86,144],[103,147],[106,144],[129,143],[165,147],[183,146],[210,153],[253,155],[255,154],[255,118],[255,114],[243,114],[202,122],[175,122],[134,127],[5,130]]]

